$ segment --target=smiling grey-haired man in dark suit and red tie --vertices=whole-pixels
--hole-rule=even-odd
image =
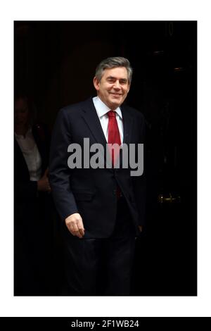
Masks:
[[[132,175],[128,162],[140,163],[145,125],[139,111],[123,104],[131,80],[126,58],[103,60],[94,77],[97,96],[63,108],[53,130],[49,178],[62,220],[67,294],[129,295],[145,206],[144,176]],[[96,143],[105,159],[93,165]],[[113,153],[111,144],[120,148]],[[121,149],[129,144],[131,158]],[[81,153],[74,155],[77,146]]]

